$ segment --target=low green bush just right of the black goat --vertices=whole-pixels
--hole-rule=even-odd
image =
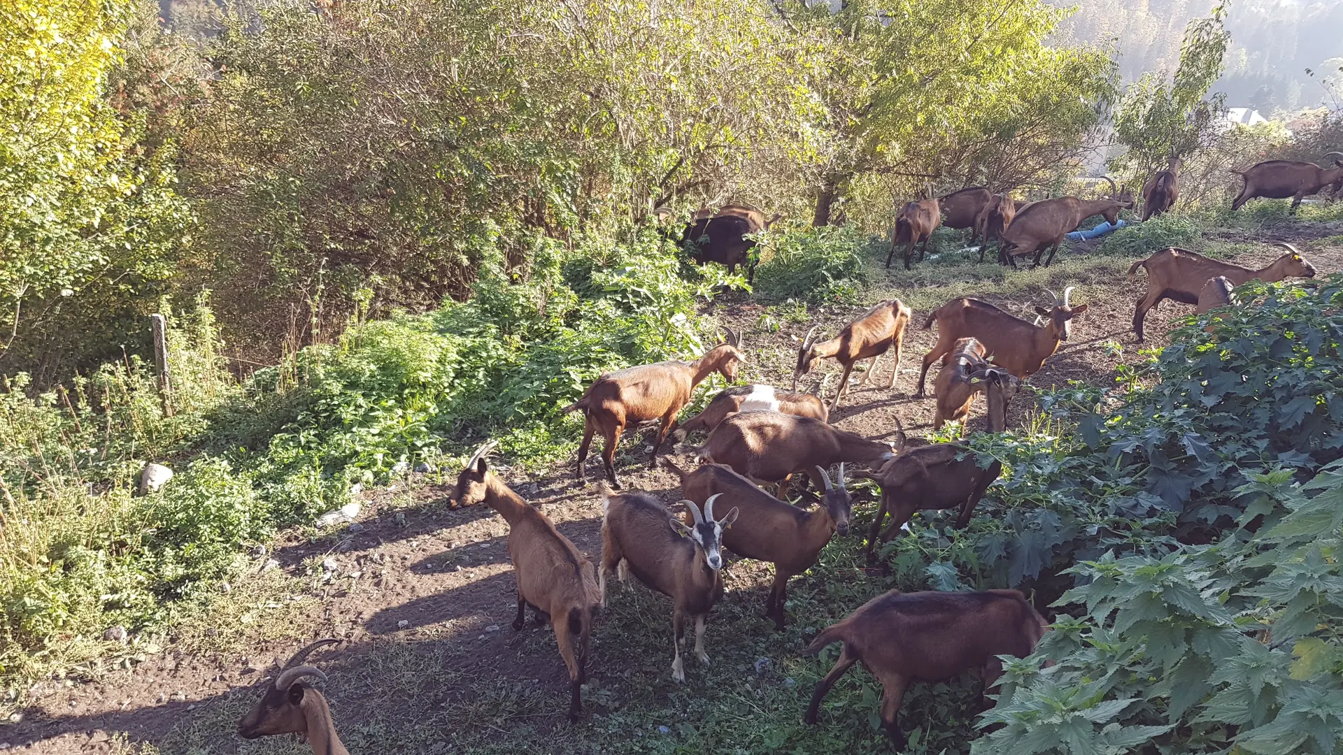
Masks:
[[[823,226],[770,234],[756,270],[756,293],[767,301],[857,304],[864,257],[877,242],[857,226]]]

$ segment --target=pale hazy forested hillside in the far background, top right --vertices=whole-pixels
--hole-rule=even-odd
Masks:
[[[1116,40],[1120,73],[1135,81],[1147,71],[1174,71],[1180,36],[1191,17],[1215,0],[1048,0],[1077,12],[1060,35],[1107,44]],[[1226,73],[1213,87],[1232,107],[1296,110],[1336,106],[1343,97],[1343,3],[1339,0],[1232,0],[1232,47]],[[1307,74],[1307,69],[1315,73]],[[1327,86],[1331,85],[1331,86]],[[1332,94],[1331,90],[1332,89]]]

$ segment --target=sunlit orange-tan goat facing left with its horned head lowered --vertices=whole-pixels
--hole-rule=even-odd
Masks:
[[[886,353],[890,347],[896,347],[896,363],[890,367],[890,382],[886,387],[896,384],[896,373],[900,372],[900,349],[905,343],[905,326],[909,325],[912,312],[900,300],[893,298],[877,304],[868,312],[860,314],[839,330],[839,335],[827,341],[813,341],[817,329],[807,330],[802,347],[798,348],[798,364],[792,368],[792,390],[798,390],[798,379],[811,372],[811,365],[818,359],[834,359],[843,365],[843,375],[839,378],[839,390],[835,391],[834,400],[830,402],[830,411],[839,406],[839,398],[849,392],[849,373],[853,365],[862,359],[872,357],[872,364],[864,372],[860,387],[877,372],[877,360]]]

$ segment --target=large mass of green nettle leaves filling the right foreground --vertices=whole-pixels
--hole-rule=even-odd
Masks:
[[[1207,317],[1174,333],[1152,388],[1057,402],[1072,441],[1013,465],[1005,505],[1027,480],[1050,508],[1077,504],[1060,516],[1077,536],[1049,559],[1073,562],[1057,572],[1070,587],[1037,654],[1007,665],[974,752],[1339,746],[1343,275],[1238,294],[1214,333]],[[1123,543],[1097,513],[1131,519]]]

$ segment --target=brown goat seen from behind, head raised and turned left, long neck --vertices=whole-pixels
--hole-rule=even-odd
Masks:
[[[569,720],[573,721],[579,717],[579,689],[587,681],[592,609],[600,601],[592,563],[555,529],[549,517],[529,506],[490,472],[485,457],[494,446],[490,441],[471,455],[466,469],[457,476],[450,501],[454,506],[483,502],[508,521],[508,555],[517,578],[513,629],[522,629],[522,611],[528,605],[549,618],[555,643],[569,672]]]

